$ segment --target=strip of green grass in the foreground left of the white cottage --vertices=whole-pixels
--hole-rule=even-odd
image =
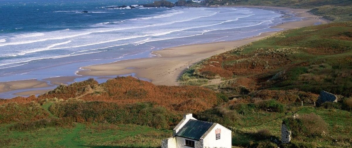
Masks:
[[[158,147],[171,130],[137,125],[80,124],[73,128],[49,127],[30,131],[13,131],[0,125],[0,147],[4,148],[95,148]]]

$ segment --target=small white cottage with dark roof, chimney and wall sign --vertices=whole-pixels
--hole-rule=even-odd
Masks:
[[[231,148],[231,130],[218,123],[199,121],[186,114],[172,132],[162,140],[162,148]]]

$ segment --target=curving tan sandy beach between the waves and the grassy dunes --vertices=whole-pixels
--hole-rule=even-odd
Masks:
[[[73,82],[75,77],[80,78],[83,76],[113,76],[113,75],[126,75],[135,74],[137,78],[149,79],[155,85],[178,85],[178,78],[183,74],[184,70],[188,66],[202,61],[210,56],[223,53],[225,51],[231,50],[235,47],[245,45],[258,39],[262,39],[273,35],[277,32],[284,30],[294,29],[298,27],[315,25],[315,23],[320,22],[321,24],[328,23],[328,20],[321,19],[321,17],[309,13],[309,9],[294,9],[289,7],[273,7],[273,6],[228,6],[228,7],[252,7],[261,8],[268,10],[285,10],[291,13],[296,13],[296,17],[305,17],[305,19],[300,21],[293,21],[284,24],[278,24],[272,26],[271,28],[280,28],[280,31],[263,32],[258,36],[253,36],[250,38],[240,39],[236,41],[225,41],[225,42],[212,42],[212,43],[202,43],[202,44],[191,44],[191,45],[181,45],[178,47],[164,48],[162,50],[153,51],[151,54],[155,55],[149,58],[138,58],[131,60],[123,60],[112,63],[104,63],[98,65],[84,66],[79,70],[76,75],[68,79],[67,76],[56,77],[55,80],[51,78],[45,79],[50,81],[46,85],[57,85],[59,83],[68,84],[70,81]],[[189,50],[192,49],[192,50]],[[44,88],[35,87],[28,85],[26,80],[16,81],[16,84],[23,87],[22,89],[12,89],[13,86],[6,84],[6,82],[0,82],[0,93],[23,90],[22,92],[14,93],[14,95],[31,95],[32,93],[43,93],[42,91],[26,91],[31,88]],[[33,80],[37,83],[43,83],[46,81]],[[44,85],[43,85],[44,86]],[[38,93],[39,94],[39,93]]]

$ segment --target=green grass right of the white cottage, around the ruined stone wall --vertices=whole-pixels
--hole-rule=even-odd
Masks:
[[[291,111],[302,115],[305,113],[314,112],[328,123],[328,135],[318,138],[293,138],[293,143],[310,143],[318,147],[351,147],[352,146],[352,113],[343,110],[328,110],[321,108],[314,108],[310,106],[294,107]],[[256,112],[252,115],[241,117],[240,120],[232,127],[233,146],[248,147],[252,143],[260,142],[274,142],[281,139],[281,123],[282,119],[290,117],[292,113],[274,113],[274,112]],[[270,138],[258,139],[255,132],[261,129],[268,129],[271,133]],[[271,139],[272,138],[272,139]],[[339,142],[332,142],[333,139],[339,139]],[[342,141],[344,140],[344,141]],[[275,143],[275,142],[274,142]]]

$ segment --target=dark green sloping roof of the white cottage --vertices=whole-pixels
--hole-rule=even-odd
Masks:
[[[214,123],[190,119],[176,133],[176,136],[199,140]]]

